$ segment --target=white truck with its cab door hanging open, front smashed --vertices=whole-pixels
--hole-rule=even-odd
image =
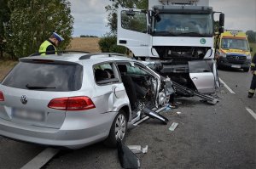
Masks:
[[[219,87],[209,0],[148,0],[148,10],[119,8],[117,43],[162,76],[199,93]],[[219,13],[219,12],[218,12]],[[219,14],[223,32],[224,14]]]

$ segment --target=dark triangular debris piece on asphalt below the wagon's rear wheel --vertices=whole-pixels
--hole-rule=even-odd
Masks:
[[[123,142],[118,139],[117,149],[120,164],[123,168],[139,168],[140,160],[137,155],[135,155],[131,149],[129,149]]]

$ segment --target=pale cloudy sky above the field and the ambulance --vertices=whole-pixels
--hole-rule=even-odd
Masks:
[[[109,0],[69,0],[74,17],[73,37],[102,37],[109,32],[105,7]],[[209,0],[214,11],[225,14],[225,29],[256,31],[256,0]]]

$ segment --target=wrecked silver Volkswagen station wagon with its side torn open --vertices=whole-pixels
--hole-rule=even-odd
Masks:
[[[0,135],[79,149],[115,146],[142,107],[169,101],[166,79],[121,54],[63,53],[21,58],[0,84]]]

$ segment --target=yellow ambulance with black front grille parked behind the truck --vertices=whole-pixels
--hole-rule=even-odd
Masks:
[[[250,69],[252,49],[249,48],[247,35],[243,31],[225,30],[217,37],[215,48],[218,68]]]

